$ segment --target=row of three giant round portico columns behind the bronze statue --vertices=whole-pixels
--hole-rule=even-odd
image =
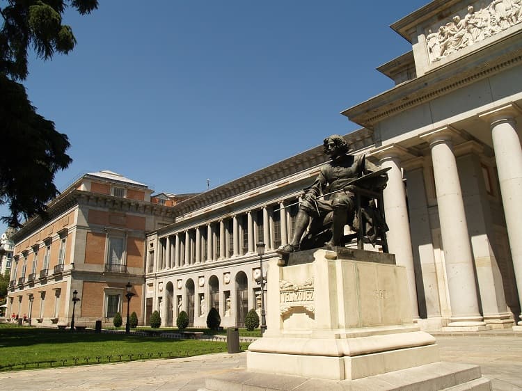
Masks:
[[[509,246],[519,301],[522,302],[522,226],[520,224],[522,221],[522,150],[514,121],[517,113],[519,113],[519,109],[513,104],[509,104],[479,117],[491,125]],[[482,255],[481,248],[470,241],[461,178],[459,178],[457,159],[454,154],[455,136],[457,136],[457,132],[452,127],[442,127],[420,136],[429,144],[432,154],[438,219],[444,246],[445,272],[447,273],[451,308],[450,323],[447,329],[484,330],[495,325],[510,326],[512,321],[507,319],[509,314],[506,312],[503,289],[491,286],[491,283],[493,285],[502,284],[501,278],[498,278],[496,261],[484,257],[484,259],[487,258],[487,262],[482,259],[481,262],[477,262]],[[390,168],[388,186],[384,191],[384,209],[390,228],[388,246],[390,253],[395,253],[397,264],[406,267],[409,290],[413,299],[413,314],[418,316],[413,249],[401,166],[402,161],[415,161],[418,158],[399,145],[380,147],[372,152],[372,155],[380,160],[383,168]],[[422,176],[419,175],[411,174],[409,177],[422,179]],[[412,185],[413,189],[416,184]],[[423,191],[422,189],[422,193]],[[416,199],[412,197],[411,201],[413,208],[417,208]],[[427,218],[427,213],[425,213],[425,218]],[[420,237],[422,234],[426,236],[426,233],[422,232],[415,232],[415,234],[416,237]],[[426,248],[423,247],[425,246],[419,246],[418,251],[421,254],[424,252],[424,256],[421,255],[421,257],[427,258],[429,251],[426,252]],[[424,260],[424,262],[426,261]],[[436,286],[434,273],[430,273],[430,271],[434,272],[432,269],[433,266],[422,269],[422,279],[426,290],[433,290],[433,287]],[[425,273],[426,271],[427,273]],[[480,314],[478,295],[481,299],[482,314]],[[434,308],[440,305],[434,292],[425,292],[425,299]],[[440,309],[436,309],[435,312],[432,315],[441,316]],[[519,326],[515,326],[515,328],[522,329],[522,321],[519,321]]]

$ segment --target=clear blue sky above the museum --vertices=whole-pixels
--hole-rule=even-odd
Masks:
[[[389,25],[426,3],[111,0],[91,15],[70,10],[77,47],[31,57],[24,83],[70,138],[73,162],[56,185],[113,170],[156,192],[205,191],[207,178],[212,189],[358,129],[340,111],[393,87],[375,68],[411,45]]]

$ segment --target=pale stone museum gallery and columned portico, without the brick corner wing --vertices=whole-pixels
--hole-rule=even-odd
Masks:
[[[390,168],[388,246],[425,329],[520,321],[521,22],[520,1],[428,3],[391,26],[412,45],[378,68],[395,87],[342,112],[363,127],[345,136],[353,153]],[[214,307],[242,326],[260,306],[255,244],[277,256],[324,161],[315,147],[175,207],[147,236],[145,314],[205,326]]]

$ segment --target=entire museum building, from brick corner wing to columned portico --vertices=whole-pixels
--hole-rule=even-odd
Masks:
[[[413,317],[425,330],[520,329],[522,3],[434,0],[391,27],[412,47],[377,68],[395,86],[342,115],[361,126],[345,136],[351,153],[390,168],[388,247],[406,269]],[[49,205],[51,221],[13,235],[8,311],[29,310],[33,297],[40,318],[70,321],[77,290],[80,319],[110,321],[130,281],[143,324],[159,310],[175,326],[184,310],[205,326],[216,308],[221,326],[244,326],[260,310],[260,262],[290,241],[303,189],[326,159],[313,147],[172,204],[130,179],[87,175]],[[112,193],[113,180],[126,190]],[[107,266],[113,254],[125,273]],[[38,269],[47,275],[35,278]]]

